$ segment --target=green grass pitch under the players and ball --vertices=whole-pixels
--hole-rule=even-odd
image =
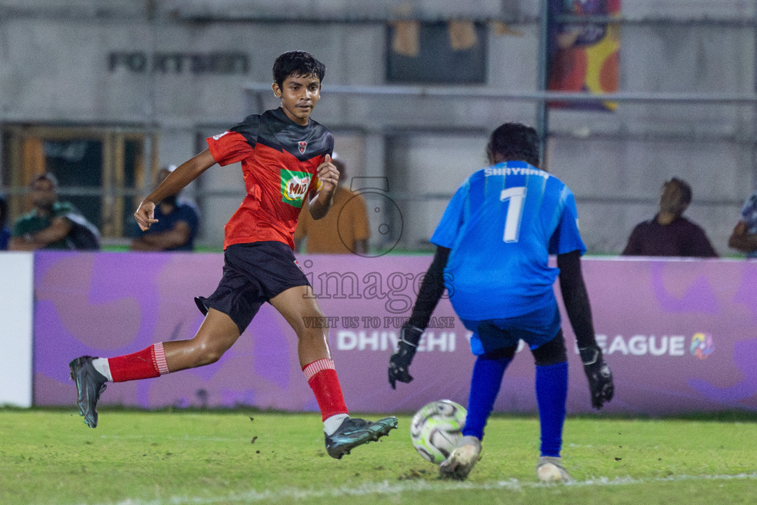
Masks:
[[[534,417],[493,417],[466,482],[439,480],[409,426],[333,460],[317,414],[103,408],[90,429],[73,408],[0,409],[0,503],[757,503],[754,416],[569,417],[571,485],[537,482]]]

